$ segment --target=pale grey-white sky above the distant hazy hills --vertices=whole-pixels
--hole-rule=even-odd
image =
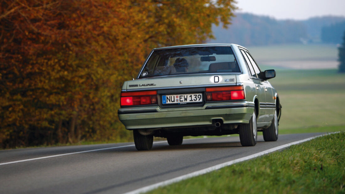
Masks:
[[[315,16],[345,16],[345,0],[236,0],[238,12],[275,19],[304,20]]]

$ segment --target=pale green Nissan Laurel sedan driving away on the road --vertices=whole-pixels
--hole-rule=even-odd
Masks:
[[[121,91],[120,121],[132,130],[137,150],[153,137],[180,145],[183,136],[240,136],[254,146],[257,131],[278,139],[281,105],[249,51],[236,44],[196,44],[153,49],[135,80]]]

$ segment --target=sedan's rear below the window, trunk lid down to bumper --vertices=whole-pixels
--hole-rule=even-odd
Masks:
[[[221,76],[234,81],[217,85],[210,84],[210,77],[128,81],[121,92],[119,119],[128,130],[248,123],[254,104],[246,101],[236,75]]]

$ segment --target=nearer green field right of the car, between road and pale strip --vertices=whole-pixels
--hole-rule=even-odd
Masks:
[[[280,129],[345,125],[345,75],[337,70],[277,70],[270,80],[283,106]]]

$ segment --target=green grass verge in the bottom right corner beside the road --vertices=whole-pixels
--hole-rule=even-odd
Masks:
[[[345,193],[345,132],[318,137],[149,193]]]

